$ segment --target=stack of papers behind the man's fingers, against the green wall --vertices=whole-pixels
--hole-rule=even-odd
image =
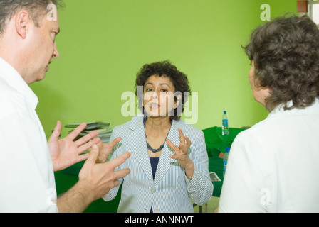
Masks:
[[[70,128],[70,131],[68,133],[71,133],[76,127],[78,127],[81,123],[69,123],[66,125],[66,128]],[[113,127],[110,127],[110,123],[105,122],[86,122],[87,126],[86,128],[78,135],[78,138],[75,138],[75,140],[78,140],[79,138],[88,135],[88,133],[91,133],[93,131],[98,131],[97,137],[99,137],[102,141],[102,143],[109,143],[110,137],[113,131]]]

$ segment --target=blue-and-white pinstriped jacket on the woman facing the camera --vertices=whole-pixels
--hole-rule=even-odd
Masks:
[[[179,144],[178,128],[182,129],[192,142],[189,157],[194,162],[192,179],[187,179],[184,168],[169,155],[174,154],[165,143],[157,165],[155,179],[152,177],[150,157],[147,153],[143,115],[134,116],[131,121],[115,126],[110,141],[117,137],[122,140],[113,148],[111,160],[127,151],[131,157],[119,169],[130,168],[130,174],[120,179],[122,184],[121,200],[118,212],[193,212],[191,199],[195,204],[203,205],[211,199],[213,184],[209,178],[208,157],[204,133],[184,121],[172,121],[167,138],[175,145]],[[120,186],[103,196],[110,201],[117,195]]]

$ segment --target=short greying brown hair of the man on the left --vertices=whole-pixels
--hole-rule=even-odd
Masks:
[[[6,23],[22,9],[28,11],[35,26],[40,27],[38,19],[48,12],[48,4],[55,4],[59,8],[64,6],[62,0],[0,0],[0,35],[4,32]]]

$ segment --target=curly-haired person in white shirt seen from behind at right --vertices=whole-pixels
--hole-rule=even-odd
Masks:
[[[235,138],[219,212],[319,212],[319,30],[308,16],[276,18],[245,50],[270,114]]]

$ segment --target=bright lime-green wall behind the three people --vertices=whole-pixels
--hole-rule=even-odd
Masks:
[[[159,60],[170,60],[185,72],[192,91],[198,92],[197,128],[221,126],[224,110],[231,127],[253,126],[266,118],[268,113],[251,94],[250,62],[241,45],[263,23],[261,4],[270,4],[273,18],[296,13],[296,0],[65,3],[56,39],[60,57],[53,60],[46,79],[31,84],[48,137],[58,120],[63,126],[83,121],[116,126],[130,121],[121,114],[125,103],[121,95],[134,92],[142,65]],[[63,128],[62,136],[66,135]]]

